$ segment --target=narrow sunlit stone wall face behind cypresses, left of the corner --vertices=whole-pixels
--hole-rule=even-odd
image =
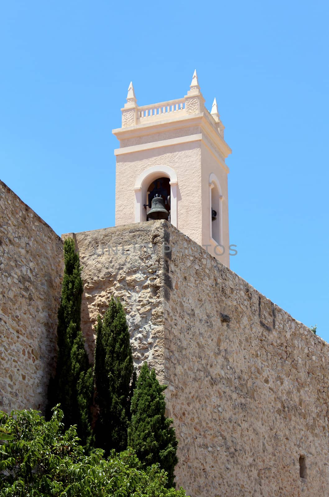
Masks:
[[[164,257],[167,223],[137,223],[76,233],[82,266],[82,332],[93,361],[97,315],[113,295],[127,313],[133,358],[164,371]]]

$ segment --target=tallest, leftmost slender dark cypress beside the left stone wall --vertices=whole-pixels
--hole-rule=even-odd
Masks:
[[[82,443],[91,441],[90,405],[93,395],[92,368],[81,332],[82,279],[79,254],[72,238],[64,242],[64,277],[58,310],[57,368],[48,390],[49,407],[60,403],[65,427],[77,424]]]

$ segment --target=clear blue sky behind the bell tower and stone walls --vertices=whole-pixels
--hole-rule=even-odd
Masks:
[[[231,268],[329,341],[329,2],[8,1],[0,178],[58,233],[114,225],[111,130],[196,68],[233,149]]]

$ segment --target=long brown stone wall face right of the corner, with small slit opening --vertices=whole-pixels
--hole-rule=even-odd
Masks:
[[[176,229],[165,232],[177,480],[192,496],[327,495],[328,343]]]

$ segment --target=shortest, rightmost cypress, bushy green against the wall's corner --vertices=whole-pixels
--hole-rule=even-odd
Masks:
[[[147,362],[142,366],[131,402],[131,423],[128,446],[132,447],[142,463],[159,463],[168,474],[168,487],[173,487],[177,464],[177,440],[172,419],[165,416],[165,385],[160,385],[154,369]]]

